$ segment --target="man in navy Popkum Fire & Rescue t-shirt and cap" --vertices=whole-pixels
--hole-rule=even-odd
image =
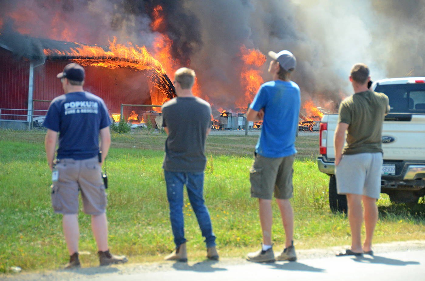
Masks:
[[[47,128],[45,150],[52,171],[51,202],[55,213],[63,214],[63,232],[70,255],[65,268],[80,267],[79,191],[83,211],[91,215],[100,265],[124,263],[125,256],[112,255],[108,249],[106,194],[101,169],[111,144],[111,118],[102,98],[83,90],[85,70],[81,65],[66,65],[57,78],[65,94],[51,102],[43,126]],[[58,133],[59,148],[54,161]]]

